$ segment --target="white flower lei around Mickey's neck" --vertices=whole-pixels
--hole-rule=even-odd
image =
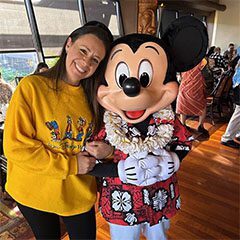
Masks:
[[[127,122],[117,114],[106,111],[104,114],[106,140],[115,148],[130,155],[163,148],[170,142],[174,127],[170,123],[162,122],[173,120],[175,115],[171,108],[167,108],[154,113],[153,118],[155,126],[148,126],[147,137],[143,139],[137,128],[128,126]]]

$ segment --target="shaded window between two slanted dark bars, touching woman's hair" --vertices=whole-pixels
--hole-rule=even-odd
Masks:
[[[44,56],[59,56],[68,35],[81,26],[78,1],[32,2]]]

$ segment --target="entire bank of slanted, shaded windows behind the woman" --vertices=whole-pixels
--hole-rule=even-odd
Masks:
[[[53,66],[83,19],[103,22],[114,36],[123,34],[117,0],[0,0],[0,6],[0,71],[11,83],[31,74],[41,58]]]

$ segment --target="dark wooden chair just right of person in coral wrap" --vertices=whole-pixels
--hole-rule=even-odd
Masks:
[[[214,123],[214,113],[217,112],[219,114],[219,117],[222,117],[222,105],[227,102],[227,106],[231,103],[229,103],[229,98],[226,99],[224,96],[229,95],[229,91],[231,89],[232,84],[232,76],[234,74],[234,71],[232,69],[227,70],[226,72],[223,72],[220,80],[217,84],[217,86],[214,88],[213,92],[210,94],[209,97],[207,97],[207,115],[210,115],[210,118],[212,120],[212,124]],[[214,111],[216,109],[216,111]]]

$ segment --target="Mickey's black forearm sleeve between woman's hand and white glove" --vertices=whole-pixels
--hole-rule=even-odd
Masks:
[[[95,177],[118,177],[117,163],[98,163],[88,174]]]

